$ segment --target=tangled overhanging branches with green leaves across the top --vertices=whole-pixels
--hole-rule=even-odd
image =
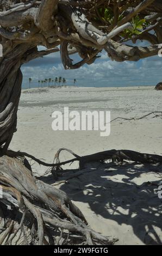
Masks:
[[[65,69],[93,63],[103,49],[112,60],[137,61],[158,54],[162,42],[160,0],[2,0],[0,9],[4,57],[9,44],[25,43],[30,51],[22,63],[59,51],[59,45]],[[136,46],[138,39],[149,45]],[[48,50],[38,52],[38,45]],[[82,60],[73,64],[72,53]]]

